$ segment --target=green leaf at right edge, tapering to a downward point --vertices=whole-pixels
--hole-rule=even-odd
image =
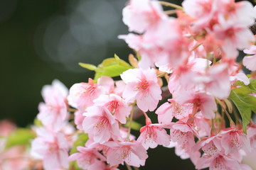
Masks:
[[[240,112],[242,117],[242,129],[246,134],[247,125],[250,123],[252,111],[256,111],[256,98],[254,96],[238,92],[240,91],[235,91],[235,89],[233,89],[229,98],[233,101]]]

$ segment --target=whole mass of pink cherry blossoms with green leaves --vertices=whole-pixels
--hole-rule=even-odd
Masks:
[[[144,166],[147,149],[162,145],[196,169],[251,169],[242,159],[256,150],[256,42],[249,29],[255,19],[248,1],[130,0],[123,21],[132,33],[119,38],[136,57],[129,55],[130,64],[111,59],[119,81],[105,62],[100,72],[93,66],[105,74],[69,91],[57,80],[44,86],[31,154],[46,170],[116,170]],[[237,62],[239,50],[250,75]],[[145,125],[135,137],[140,115]]]

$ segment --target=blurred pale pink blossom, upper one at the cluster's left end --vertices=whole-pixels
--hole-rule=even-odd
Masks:
[[[50,130],[58,131],[69,115],[66,102],[68,89],[54,80],[52,85],[43,86],[42,96],[45,103],[39,104],[37,118]]]

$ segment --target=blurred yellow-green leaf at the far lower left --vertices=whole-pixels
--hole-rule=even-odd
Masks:
[[[29,145],[31,140],[33,140],[35,137],[36,134],[32,130],[26,128],[18,128],[8,137],[6,137],[5,148],[8,149],[9,147],[14,147],[16,145]]]

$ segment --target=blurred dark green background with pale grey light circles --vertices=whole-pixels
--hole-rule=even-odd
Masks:
[[[126,1],[0,0],[0,120],[20,127],[33,123],[43,85],[59,79],[70,88],[93,77],[78,62],[97,65],[114,53],[126,60],[132,50],[117,38],[128,33],[122,23]],[[159,167],[193,164],[176,157],[174,149],[149,149],[142,169]]]

